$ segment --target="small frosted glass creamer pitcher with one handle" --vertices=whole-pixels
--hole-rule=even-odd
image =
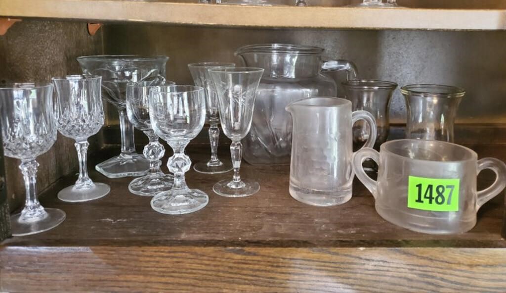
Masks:
[[[351,199],[353,182],[353,124],[365,120],[376,141],[374,117],[351,111],[342,98],[313,97],[293,102],[286,111],[293,120],[290,162],[290,195],[306,204],[332,206]]]

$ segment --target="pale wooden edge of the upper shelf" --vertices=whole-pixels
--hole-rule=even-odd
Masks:
[[[452,1],[451,3],[455,2]],[[18,18],[56,18],[97,22],[155,22],[208,26],[437,30],[506,29],[506,5],[502,2],[500,5],[491,4],[489,6],[466,5],[470,1],[460,2],[462,4],[456,7],[466,7],[466,9],[258,7],[124,0],[0,0],[0,15]],[[476,1],[472,3],[476,3]]]

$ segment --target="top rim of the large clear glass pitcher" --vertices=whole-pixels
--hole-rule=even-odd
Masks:
[[[296,55],[314,55],[323,53],[324,49],[316,46],[272,43],[272,44],[252,44],[243,46],[234,52],[234,55],[244,53],[278,53],[278,54],[296,54]]]

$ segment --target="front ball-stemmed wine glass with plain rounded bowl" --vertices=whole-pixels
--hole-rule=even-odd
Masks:
[[[202,130],[205,122],[204,89],[197,86],[162,86],[152,90],[149,118],[155,133],[174,150],[168,159],[168,170],[174,173],[174,186],[151,199],[151,207],[160,213],[184,214],[207,205],[207,194],[189,189],[185,173],[190,170],[186,145]]]

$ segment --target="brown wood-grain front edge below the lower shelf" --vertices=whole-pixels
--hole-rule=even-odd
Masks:
[[[2,249],[2,248],[0,248]],[[504,292],[506,249],[4,247],[0,291]]]

